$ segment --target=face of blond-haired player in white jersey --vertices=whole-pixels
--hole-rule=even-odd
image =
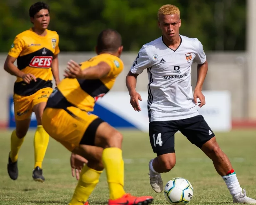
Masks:
[[[162,34],[169,40],[179,36],[181,27],[181,19],[178,14],[159,16],[158,26],[162,30]]]

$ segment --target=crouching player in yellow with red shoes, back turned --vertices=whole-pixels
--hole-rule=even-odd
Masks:
[[[119,59],[123,50],[120,34],[103,30],[97,40],[97,56],[77,64],[70,61],[63,79],[50,95],[42,117],[48,134],[74,155],[88,160],[69,205],[88,204],[87,200],[106,168],[109,205],[149,204],[152,197],[134,197],[123,189],[124,162],[121,144],[123,136],[98,116],[91,114],[95,101],[114,85],[123,70]],[[77,161],[79,162],[79,161]],[[81,163],[72,165],[79,168]]]

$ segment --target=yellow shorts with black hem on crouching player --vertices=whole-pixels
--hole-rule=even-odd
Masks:
[[[45,131],[69,151],[80,144],[93,146],[96,129],[102,122],[98,116],[76,107],[47,107],[42,116]]]

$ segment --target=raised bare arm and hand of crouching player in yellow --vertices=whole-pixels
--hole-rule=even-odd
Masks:
[[[64,76],[67,78],[80,78],[80,79],[100,79],[108,75],[111,66],[101,61],[96,66],[82,70],[78,63],[70,60],[65,70]]]

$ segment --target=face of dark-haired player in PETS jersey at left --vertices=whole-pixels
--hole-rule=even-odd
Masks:
[[[37,12],[34,18],[31,18],[31,22],[34,24],[34,27],[39,30],[47,29],[50,23],[50,14],[48,9],[41,9]]]

